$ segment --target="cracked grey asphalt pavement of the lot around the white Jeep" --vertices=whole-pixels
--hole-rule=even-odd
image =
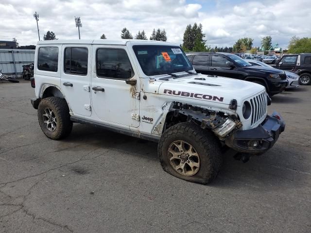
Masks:
[[[272,98],[286,129],[213,183],[164,172],[154,142],[74,124],[48,139],[30,83],[0,83],[0,233],[310,233],[311,86]]]

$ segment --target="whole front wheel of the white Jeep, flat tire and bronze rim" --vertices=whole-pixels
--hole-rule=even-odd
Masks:
[[[163,169],[180,179],[207,184],[222,164],[216,136],[193,123],[178,123],[166,130],[158,144]]]

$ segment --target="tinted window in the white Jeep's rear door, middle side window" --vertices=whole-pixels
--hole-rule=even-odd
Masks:
[[[87,74],[87,49],[66,48],[64,59],[64,72],[75,75]]]

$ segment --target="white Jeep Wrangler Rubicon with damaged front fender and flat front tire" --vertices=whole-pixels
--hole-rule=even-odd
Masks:
[[[246,161],[285,129],[278,113],[267,116],[263,86],[197,74],[173,43],[39,41],[32,86],[47,137],[80,122],[156,141],[163,169],[191,182],[214,179],[224,149]]]

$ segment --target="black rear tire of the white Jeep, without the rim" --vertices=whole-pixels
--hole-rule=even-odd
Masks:
[[[51,109],[56,117],[56,128],[48,130],[44,123],[43,114],[45,109]],[[42,132],[53,140],[65,138],[71,133],[72,121],[70,120],[69,107],[65,99],[59,97],[48,97],[40,101],[38,106],[38,120]]]

